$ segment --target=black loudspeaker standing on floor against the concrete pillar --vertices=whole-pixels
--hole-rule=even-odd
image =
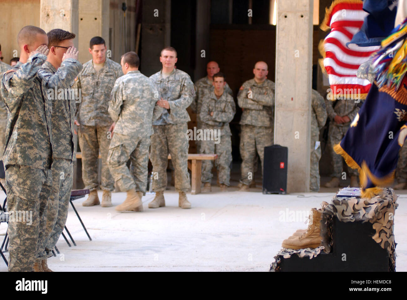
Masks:
[[[287,193],[287,159],[287,147],[264,147],[263,194]]]

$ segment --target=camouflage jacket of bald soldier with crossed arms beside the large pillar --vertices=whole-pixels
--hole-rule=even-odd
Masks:
[[[241,125],[274,125],[274,90],[274,82],[269,79],[261,84],[254,78],[243,83],[237,95],[237,102],[243,108]]]

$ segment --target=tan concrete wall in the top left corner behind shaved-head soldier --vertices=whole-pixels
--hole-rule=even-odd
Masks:
[[[9,64],[17,45],[18,32],[27,25],[39,26],[40,0],[0,0],[0,44]],[[14,51],[14,52],[13,52]]]

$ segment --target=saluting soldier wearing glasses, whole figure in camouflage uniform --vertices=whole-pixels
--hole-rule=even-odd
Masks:
[[[46,81],[48,99],[52,102],[51,116],[53,136],[53,162],[51,165],[53,189],[48,201],[46,239],[40,245],[40,266],[44,272],[51,270],[47,257],[52,256],[59,236],[68,217],[68,205],[73,182],[74,120],[76,112],[75,94],[69,90],[74,78],[82,70],[78,61],[78,51],[74,47],[74,33],[53,29],[48,35],[48,59],[38,71]],[[61,95],[62,99],[61,99]],[[66,96],[65,96],[66,95]],[[76,96],[78,93],[76,93]],[[45,252],[44,252],[45,251]]]

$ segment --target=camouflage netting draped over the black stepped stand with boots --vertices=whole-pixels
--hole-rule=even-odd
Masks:
[[[333,217],[342,222],[370,222],[375,230],[372,239],[387,250],[390,258],[389,270],[396,269],[396,242],[394,241],[394,210],[396,210],[397,195],[392,188],[383,188],[380,195],[373,198],[334,197],[332,202],[323,208],[321,219],[321,246],[315,249],[282,249],[274,256],[270,272],[280,271],[281,258],[289,258],[293,254],[299,257],[316,257],[322,250],[329,253],[332,250]]]

